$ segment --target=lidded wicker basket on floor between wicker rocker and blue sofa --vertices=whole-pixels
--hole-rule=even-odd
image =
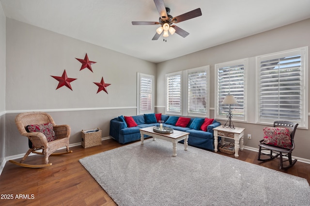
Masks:
[[[102,131],[99,128],[87,131],[82,130],[82,147],[88,148],[102,145],[101,133]]]

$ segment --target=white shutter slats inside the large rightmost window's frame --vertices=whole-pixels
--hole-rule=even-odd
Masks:
[[[300,66],[300,55],[261,61],[261,118],[300,121]]]

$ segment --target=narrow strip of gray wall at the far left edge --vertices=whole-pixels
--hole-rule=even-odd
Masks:
[[[5,157],[5,15],[0,2],[0,164]]]

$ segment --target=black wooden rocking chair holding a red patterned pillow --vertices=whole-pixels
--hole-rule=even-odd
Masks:
[[[259,153],[258,153],[258,159],[259,161],[269,161],[277,158],[279,156],[280,158],[280,169],[289,169],[297,162],[297,160],[292,161],[292,151],[295,148],[294,145],[294,135],[296,132],[298,124],[289,122],[289,121],[275,121],[273,123],[274,128],[287,128],[290,131],[290,138],[291,138],[291,147],[289,148],[282,148],[282,147],[276,147],[269,144],[264,143],[264,139],[260,141],[261,144],[259,144]],[[263,150],[270,150],[270,153],[263,153]],[[275,155],[273,154],[275,153]],[[283,154],[284,153],[284,154]],[[266,155],[269,158],[267,159],[261,159],[261,155]],[[287,157],[288,160],[283,161],[283,156]],[[283,166],[283,162],[289,162],[288,166]]]

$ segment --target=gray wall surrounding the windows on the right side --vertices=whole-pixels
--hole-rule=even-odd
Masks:
[[[247,38],[221,44],[212,48],[204,49],[199,52],[188,54],[186,56],[171,59],[157,64],[157,112],[164,113],[165,97],[160,95],[161,85],[165,85],[165,74],[186,70],[190,68],[210,65],[210,111],[214,118],[215,111],[215,64],[250,58],[249,59],[249,79],[248,86],[248,123],[236,122],[235,126],[246,128],[246,136],[252,134],[252,139],[245,139],[248,147],[258,148],[259,140],[262,139],[262,130],[266,125],[255,124],[255,106],[256,106],[256,76],[255,76],[255,56],[279,52],[310,46],[310,19],[300,21],[278,29],[269,30]],[[310,52],[309,52],[310,54]],[[310,59],[310,58],[309,58]],[[308,68],[307,68],[308,69]],[[306,78],[306,80],[308,80]],[[309,88],[306,88],[308,92]],[[309,94],[310,96],[310,94]],[[309,110],[310,111],[310,110]],[[225,123],[225,121],[221,121]],[[310,121],[309,121],[310,122]],[[296,149],[294,156],[310,160],[310,132],[309,130],[298,129],[295,135]]]

